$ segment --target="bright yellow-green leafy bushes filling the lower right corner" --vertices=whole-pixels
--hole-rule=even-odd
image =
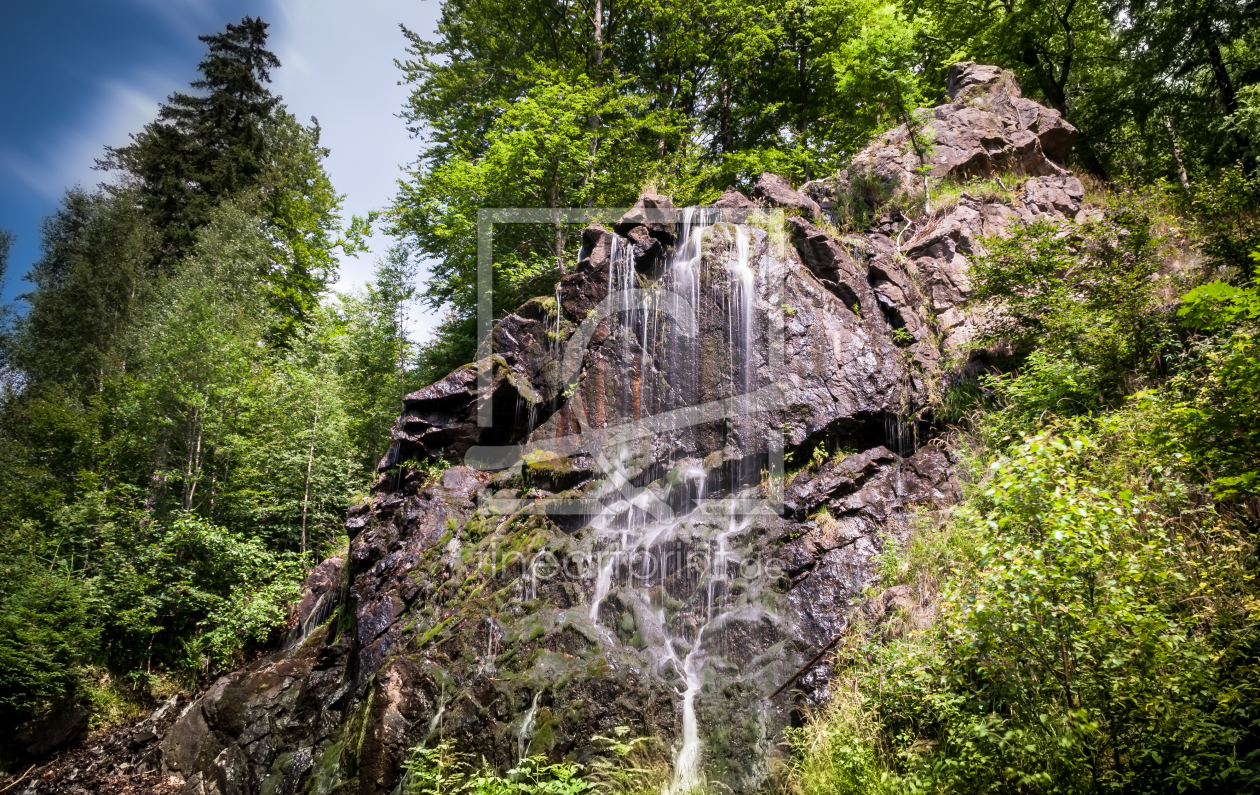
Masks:
[[[1254,562],[1176,461],[1131,446],[1153,418],[994,461],[915,564],[945,583],[935,625],[862,641],[858,701],[798,738],[806,790],[1255,785]],[[911,559],[892,554],[886,573]]]

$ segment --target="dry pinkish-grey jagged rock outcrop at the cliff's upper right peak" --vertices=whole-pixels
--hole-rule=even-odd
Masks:
[[[927,377],[942,358],[970,355],[966,348],[980,319],[968,307],[966,271],[969,258],[983,251],[980,241],[1004,234],[1013,223],[1084,218],[1085,190],[1065,165],[1079,136],[1075,127],[1057,111],[1023,98],[1014,77],[997,67],[956,63],[946,89],[949,103],[920,113],[932,139],[925,163],[901,126],[838,175],[801,186],[832,223],[872,217],[864,234],[845,243],[864,261],[888,321],[914,338],[908,350]],[[953,207],[907,218],[897,208],[908,199],[922,202],[920,166],[927,166],[929,193],[944,181],[993,178],[1008,195],[964,192]],[[818,234],[811,249],[825,244]]]

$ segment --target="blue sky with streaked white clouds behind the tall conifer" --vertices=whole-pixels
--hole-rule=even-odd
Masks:
[[[0,228],[18,239],[3,300],[29,289],[39,222],[62,194],[106,179],[92,170],[107,145],[127,141],[171,92],[197,77],[198,34],[243,15],[271,23],[281,68],[272,91],[299,118],[318,116],[328,169],[348,213],[393,193],[416,144],[397,112],[407,96],[394,58],[398,30],[430,33],[437,0],[9,0],[0,5]],[[386,242],[373,241],[377,252]],[[341,265],[339,287],[362,285],[372,256]],[[416,317],[423,334],[430,317]]]

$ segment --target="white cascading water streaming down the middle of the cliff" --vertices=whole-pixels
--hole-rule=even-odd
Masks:
[[[750,234],[742,226],[716,222],[712,210],[682,210],[677,244],[659,278],[646,287],[649,280],[636,272],[631,248],[614,242],[609,285],[614,335],[620,360],[630,368],[622,383],[638,384],[615,396],[621,421],[650,421],[654,415],[748,394],[753,388],[757,275],[750,262]],[[667,300],[702,317],[701,333],[684,334],[662,311]],[[730,546],[751,524],[751,517],[738,513],[738,498],[756,472],[740,461],[721,470],[694,457],[669,456],[669,472],[654,471],[660,465],[651,464],[636,471],[635,461],[660,457],[650,455],[650,445],[706,450],[714,445],[696,435],[717,433],[716,445],[722,449],[730,440],[746,443],[753,432],[746,413],[723,418],[721,427],[712,425],[672,428],[601,451],[619,470],[609,475],[620,491],[591,520],[598,564],[590,620],[611,636],[616,627],[602,612],[616,595],[617,611],[633,620],[658,674],[675,682],[682,732],[665,795],[706,785],[697,699],[706,677],[713,675],[707,666],[711,649],[723,644]],[[662,480],[668,484],[664,494],[630,485]],[[719,496],[711,499],[711,491]],[[679,508],[663,509],[662,503]],[[622,619],[620,626],[626,625]]]

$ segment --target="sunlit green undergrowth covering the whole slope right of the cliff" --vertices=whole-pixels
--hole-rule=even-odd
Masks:
[[[886,539],[869,596],[908,601],[852,626],[790,789],[1260,787],[1260,291],[1102,209],[973,263],[1014,367],[951,398],[964,499]]]

